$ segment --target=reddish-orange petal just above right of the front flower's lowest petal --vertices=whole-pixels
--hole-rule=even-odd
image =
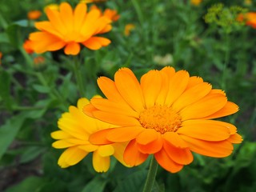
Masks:
[[[168,154],[168,156],[178,164],[188,165],[190,162],[193,162],[193,155],[188,148],[181,149],[174,147],[165,140],[163,142],[163,148],[165,149],[166,154]]]

